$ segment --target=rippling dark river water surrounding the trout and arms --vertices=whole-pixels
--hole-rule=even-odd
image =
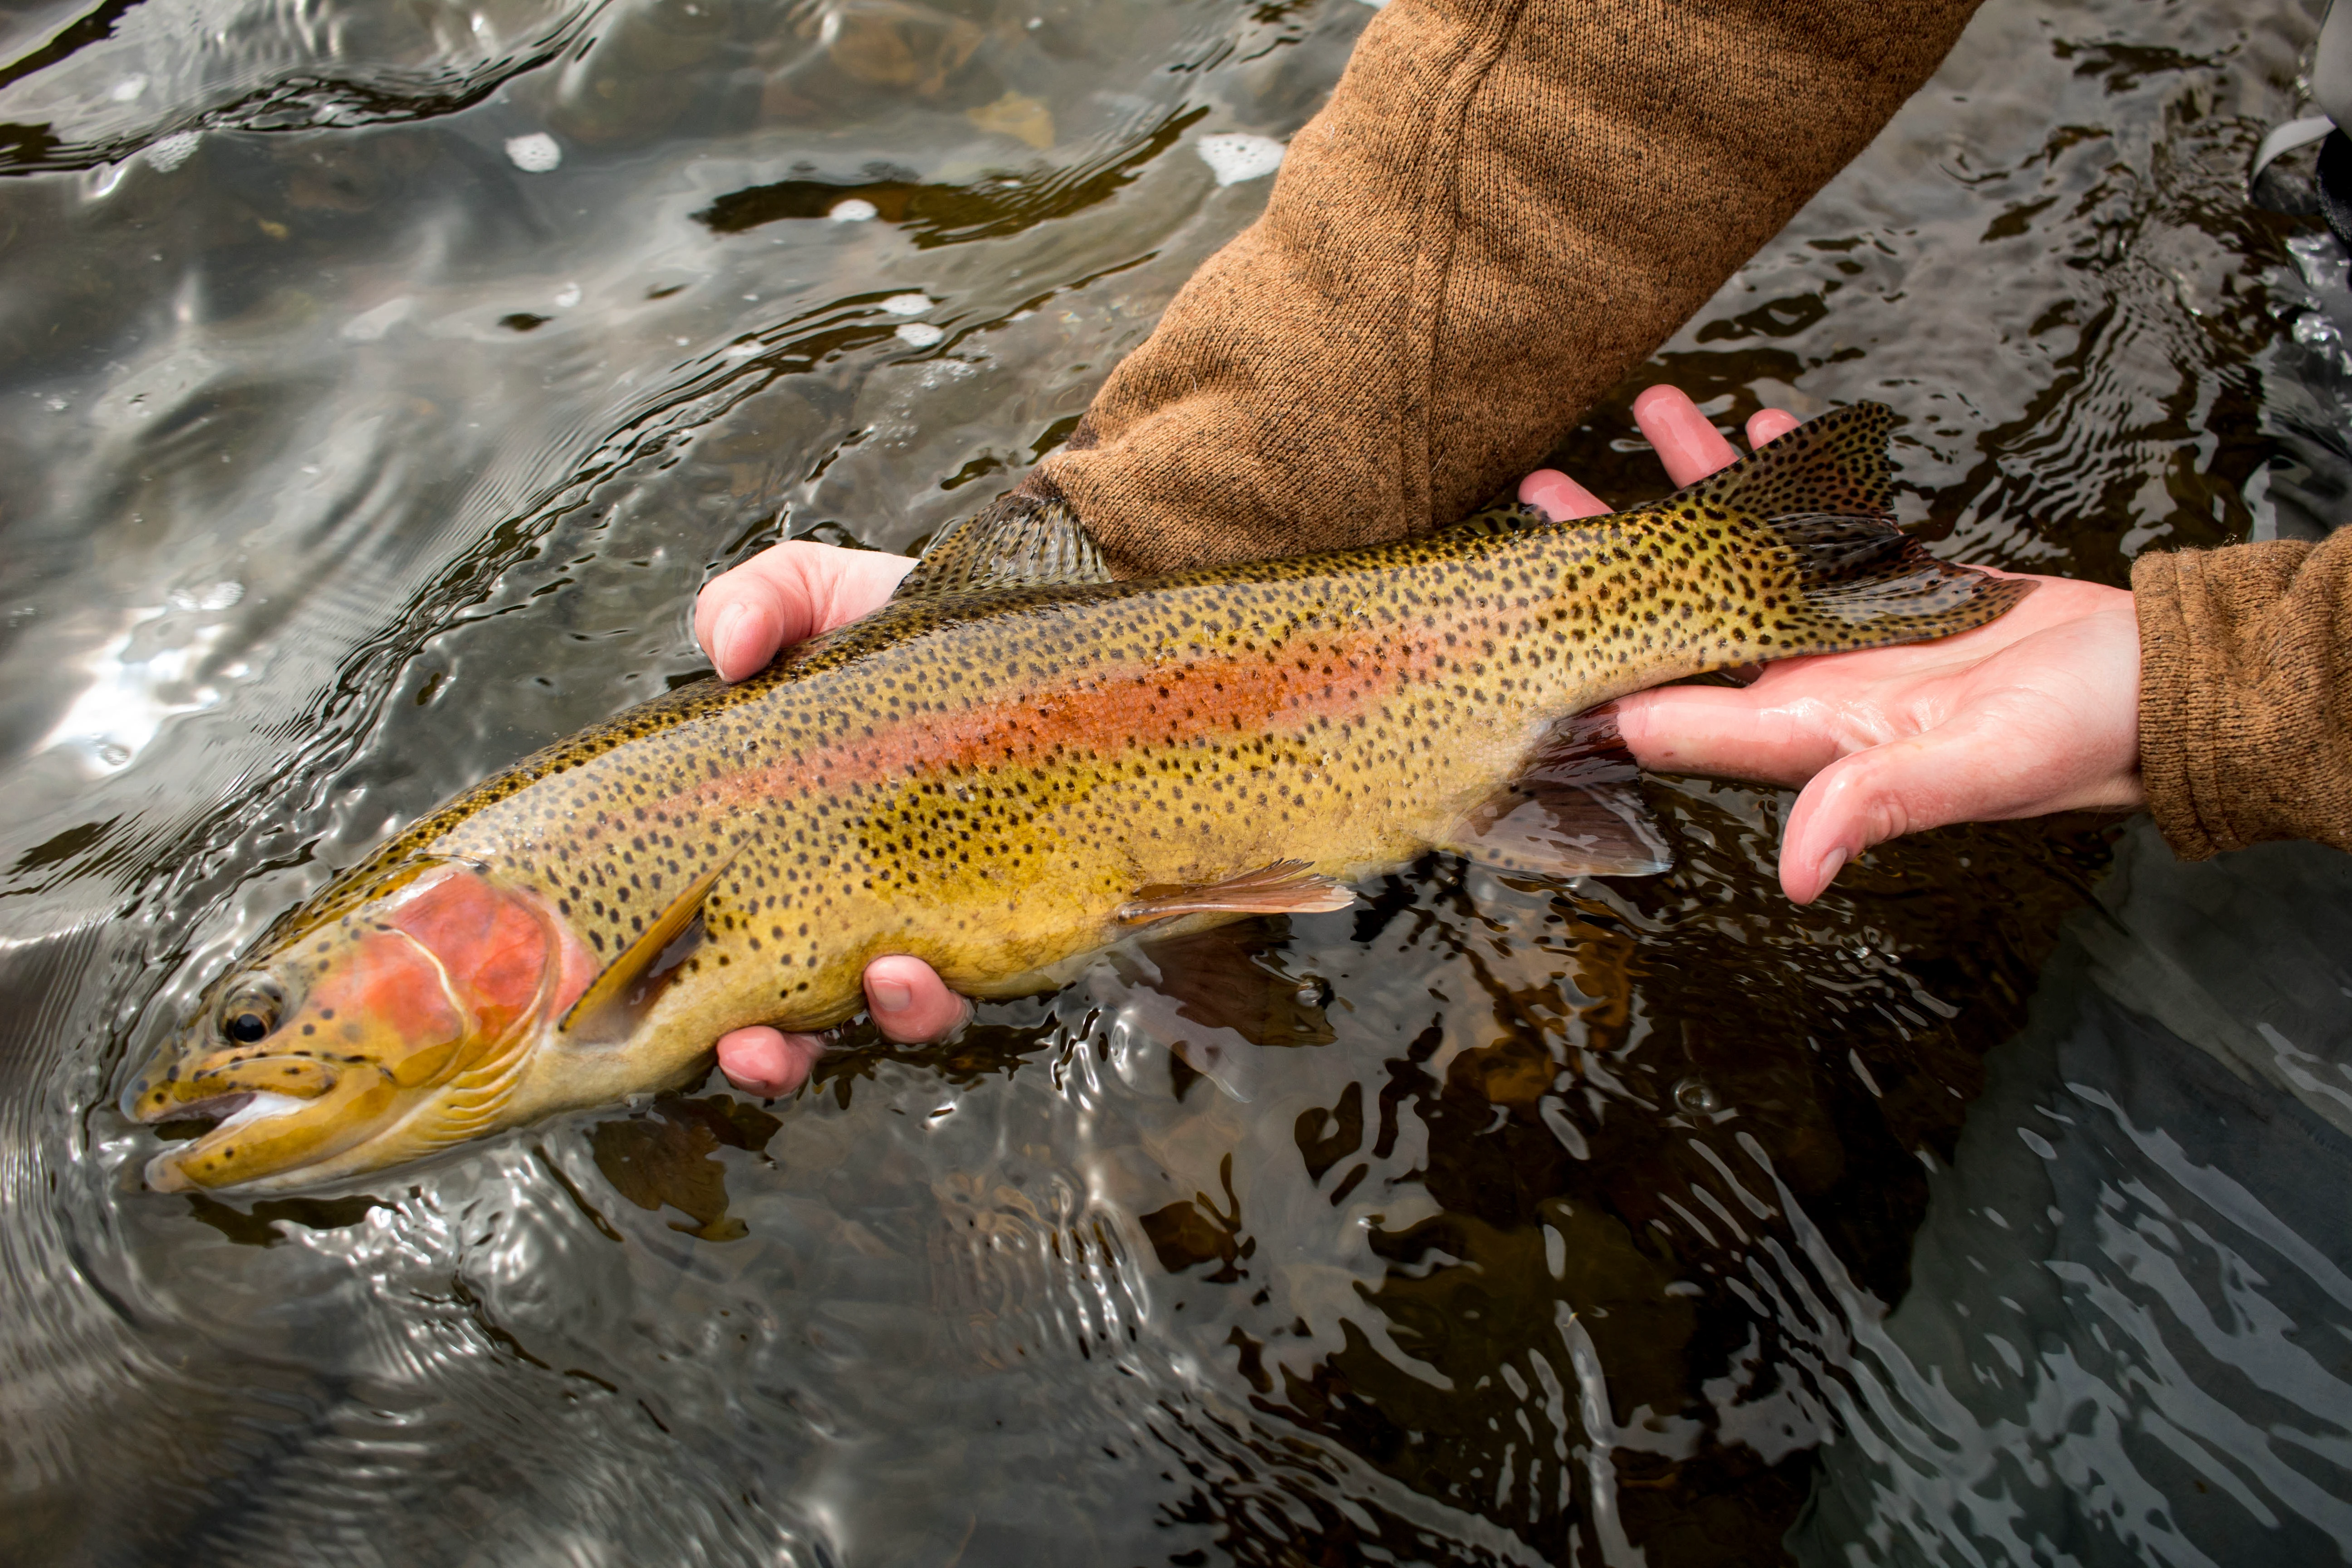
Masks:
[[[1263,202],[1263,146],[1202,139],[1291,134],[1367,16],[0,21],[9,1561],[2352,1537],[2321,851],[1955,830],[1792,910],[1783,795],[1653,780],[1661,879],[1430,858],[950,1046],[854,1037],[793,1103],[139,1190],[120,1074],[230,952],[689,677],[717,564],[908,548],[1049,451]],[[2333,522],[2343,268],[2237,183],[2310,33],[1994,0],[1656,369],[1726,423],[1896,404],[1964,559]],[[1625,430],[1562,456],[1649,494]]]

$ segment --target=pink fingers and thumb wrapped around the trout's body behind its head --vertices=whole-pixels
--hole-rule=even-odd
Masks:
[[[915,569],[913,557],[840,550],[807,538],[771,545],[703,585],[694,602],[694,637],[720,679],[757,675],[776,654],[835,625],[880,609]],[[906,954],[866,966],[866,1009],[896,1041],[943,1039],[969,1011],[964,999],[924,964]],[[771,1027],[720,1037],[720,1072],[755,1095],[786,1095],[809,1081],[826,1041]]]

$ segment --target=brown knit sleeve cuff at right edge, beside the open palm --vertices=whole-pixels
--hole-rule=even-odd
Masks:
[[[2352,849],[2352,529],[2143,555],[2131,597],[2140,778],[2173,853]]]

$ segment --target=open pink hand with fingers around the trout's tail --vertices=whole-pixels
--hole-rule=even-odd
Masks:
[[[1675,484],[1738,458],[1675,388],[1642,393],[1635,418]],[[1762,447],[1795,428],[1795,416],[1764,409],[1748,421],[1748,440]],[[1555,520],[1609,510],[1557,470],[1531,473],[1519,498]],[[1644,769],[1804,785],[1780,832],[1780,889],[1795,903],[1811,903],[1846,860],[1905,832],[2140,806],[2131,595],[2030,581],[2037,590],[2016,609],[1957,637],[1788,658],[1743,689],[1658,686],[1621,698],[1618,731]]]

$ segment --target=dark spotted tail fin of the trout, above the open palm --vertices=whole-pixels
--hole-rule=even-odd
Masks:
[[[1773,656],[1926,642],[1985,625],[2032,592],[1929,555],[1896,527],[1886,477],[1893,414],[1875,402],[1835,409],[1649,508],[1759,520],[1797,583],[1799,604],[1759,637]]]

